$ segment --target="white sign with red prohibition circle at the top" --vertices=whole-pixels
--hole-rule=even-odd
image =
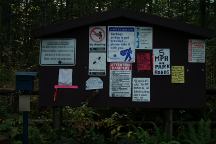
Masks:
[[[106,51],[106,26],[89,27],[89,52]]]

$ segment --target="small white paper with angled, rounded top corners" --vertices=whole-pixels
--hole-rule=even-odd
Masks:
[[[86,90],[103,89],[103,81],[99,77],[90,77],[86,81]]]

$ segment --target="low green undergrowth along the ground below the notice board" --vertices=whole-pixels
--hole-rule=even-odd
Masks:
[[[129,117],[128,113],[114,112],[111,116],[101,114],[86,104],[81,107],[63,109],[63,124],[53,129],[50,122],[30,122],[31,144],[210,144],[216,142],[215,130],[210,120],[190,123],[176,133],[172,140],[155,123],[145,128]],[[14,117],[14,116],[12,116]],[[21,117],[8,117],[0,124],[0,132],[10,138],[12,144],[21,143]]]

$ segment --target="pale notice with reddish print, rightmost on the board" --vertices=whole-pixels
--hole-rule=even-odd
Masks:
[[[188,43],[188,62],[205,63],[205,41],[190,39]]]

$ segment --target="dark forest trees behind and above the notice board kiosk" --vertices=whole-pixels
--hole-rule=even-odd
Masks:
[[[7,87],[11,71],[38,66],[39,42],[32,37],[34,29],[119,8],[216,31],[215,0],[0,0],[0,87]],[[215,55],[214,37],[207,41],[208,88],[216,87]]]

